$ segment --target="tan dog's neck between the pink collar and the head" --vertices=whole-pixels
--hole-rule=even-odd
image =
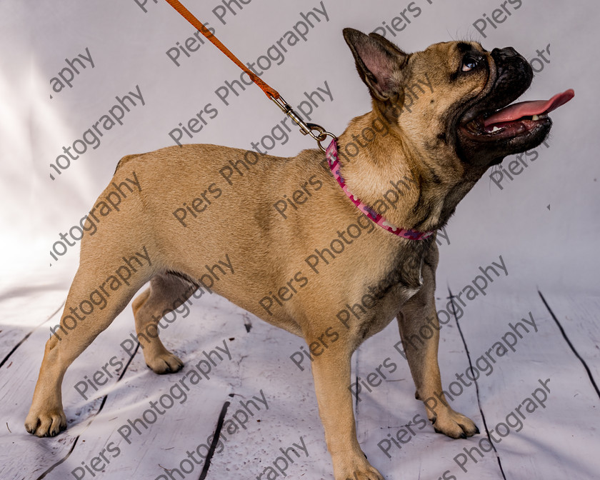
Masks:
[[[440,166],[399,127],[383,122],[371,111],[351,120],[339,136],[341,175],[349,190],[395,226],[441,228],[479,176],[464,179],[465,166],[456,159]]]

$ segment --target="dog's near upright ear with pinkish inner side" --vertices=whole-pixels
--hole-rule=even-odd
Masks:
[[[396,96],[401,84],[401,69],[409,54],[379,34],[365,35],[355,29],[344,29],[344,40],[371,95],[384,102]]]

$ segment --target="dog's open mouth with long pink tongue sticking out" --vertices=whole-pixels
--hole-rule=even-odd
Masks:
[[[468,115],[461,128],[479,139],[508,139],[528,134],[550,122],[548,114],[575,96],[572,89],[554,95],[549,100],[521,101],[496,111],[479,111],[475,118]]]

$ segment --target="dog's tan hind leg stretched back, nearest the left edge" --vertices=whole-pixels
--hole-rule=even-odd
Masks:
[[[111,249],[105,246],[103,251]],[[61,394],[66,369],[154,275],[149,257],[144,265],[142,259],[146,257],[140,255],[138,260],[138,254],[129,260],[116,255],[109,260],[101,256],[99,249],[87,249],[86,253],[82,249],[60,324],[51,329],[54,334],[46,342],[34,399],[25,420],[26,430],[36,436],[54,436],[66,429]]]

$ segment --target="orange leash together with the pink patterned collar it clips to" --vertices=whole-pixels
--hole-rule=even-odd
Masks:
[[[294,120],[296,124],[300,127],[300,133],[303,135],[310,135],[316,140],[317,145],[319,145],[319,149],[326,153],[327,164],[329,164],[329,169],[331,169],[331,173],[334,175],[336,181],[338,182],[341,189],[344,191],[344,194],[348,196],[348,198],[352,201],[352,203],[362,211],[366,216],[369,217],[372,221],[374,221],[377,225],[381,226],[382,229],[389,231],[391,234],[396,236],[400,236],[403,239],[408,240],[425,240],[431,237],[434,232],[426,231],[420,232],[411,229],[401,229],[398,226],[390,224],[381,214],[378,214],[374,209],[370,206],[364,204],[360,199],[357,199],[354,195],[346,187],[346,182],[341,177],[339,172],[339,159],[338,159],[338,151],[337,151],[337,137],[331,132],[326,131],[322,126],[317,124],[306,123],[301,117],[296,114],[294,109],[291,108],[290,104],[288,104],[284,97],[279,94],[279,91],[272,88],[266,82],[264,82],[258,75],[251,71],[246,65],[241,63],[240,59],[238,59],[232,52],[229,50],[224,44],[221,43],[219,39],[211,33],[209,29],[204,26],[204,24],[196,19],[196,17],[191,14],[191,11],[186,9],[185,6],[181,4],[179,0],[166,0],[166,2],[171,5],[181,16],[184,17],[189,23],[194,26],[196,30],[198,30],[201,34],[203,34],[206,39],[208,39],[211,44],[214,44],[217,49],[221,50],[228,59],[234,62],[240,69],[242,69],[246,74],[250,77],[254,83],[260,87],[262,91],[266,94],[269,100],[273,101],[276,106],[279,106],[279,109],[284,112],[289,118]],[[316,132],[316,133],[315,133]],[[321,145],[321,141],[324,141],[328,136],[331,136],[331,144],[329,147],[325,148]]]

